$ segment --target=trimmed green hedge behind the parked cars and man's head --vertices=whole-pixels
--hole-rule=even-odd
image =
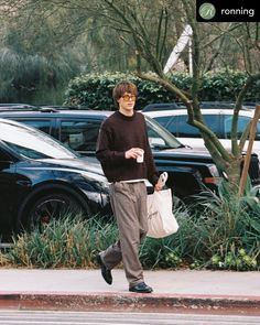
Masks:
[[[238,71],[219,71],[214,74],[206,74],[202,80],[199,97],[202,100],[235,101],[246,78],[246,73]],[[65,93],[65,105],[115,110],[112,88],[117,83],[126,79],[133,82],[138,86],[137,109],[142,109],[151,102],[176,100],[175,95],[165,90],[162,86],[142,80],[131,73],[104,73],[82,75],[72,79]],[[192,77],[187,74],[174,74],[171,76],[171,79],[178,88],[183,90],[191,89]],[[246,100],[260,100],[260,80],[248,91]]]

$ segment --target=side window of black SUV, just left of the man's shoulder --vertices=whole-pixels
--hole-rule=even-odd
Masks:
[[[76,151],[95,151],[101,121],[63,120],[61,141]]]

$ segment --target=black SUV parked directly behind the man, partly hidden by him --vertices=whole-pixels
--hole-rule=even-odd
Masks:
[[[95,156],[96,142],[101,122],[111,111],[58,110],[46,107],[37,111],[6,111],[9,118],[33,126],[65,145],[86,156]],[[153,119],[145,117],[148,136],[159,172],[167,172],[167,186],[180,198],[191,197],[205,188],[216,189],[221,172],[216,167],[208,151],[183,145]],[[252,155],[250,177],[259,184],[257,155]]]

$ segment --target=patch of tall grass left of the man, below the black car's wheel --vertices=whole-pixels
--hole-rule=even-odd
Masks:
[[[0,263],[43,269],[93,268],[97,251],[117,237],[115,223],[66,216],[52,220],[42,231],[35,229],[14,239],[13,248],[0,254]]]

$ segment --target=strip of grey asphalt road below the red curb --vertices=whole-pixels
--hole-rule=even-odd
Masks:
[[[260,317],[170,313],[0,311],[1,325],[257,325]]]

